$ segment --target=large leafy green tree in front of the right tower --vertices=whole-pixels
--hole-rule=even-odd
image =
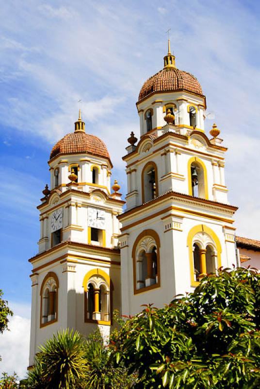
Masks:
[[[112,335],[136,389],[260,387],[260,274],[219,269],[193,293],[152,305]]]

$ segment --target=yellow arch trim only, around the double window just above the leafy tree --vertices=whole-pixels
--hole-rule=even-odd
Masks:
[[[198,224],[197,226],[194,226],[188,233],[187,237],[187,246],[189,248],[189,259],[190,259],[190,275],[191,275],[191,285],[197,286],[198,282],[194,281],[194,264],[193,264],[193,249],[192,249],[192,241],[194,236],[198,232],[206,232],[208,235],[211,236],[212,240],[215,242],[216,248],[217,248],[217,263],[218,268],[221,266],[221,253],[222,248],[220,244],[220,240],[216,233],[211,230],[210,227],[207,227],[205,224]]]

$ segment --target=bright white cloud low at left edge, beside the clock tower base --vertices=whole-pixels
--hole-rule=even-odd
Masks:
[[[12,374],[14,371],[24,378],[29,365],[30,347],[30,305],[10,303],[15,315],[10,318],[8,328],[0,335],[0,372]]]

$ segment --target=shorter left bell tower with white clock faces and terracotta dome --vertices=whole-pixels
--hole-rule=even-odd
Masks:
[[[124,201],[114,182],[107,147],[85,133],[79,118],[75,131],[52,148],[50,188],[40,212],[39,252],[32,270],[30,365],[38,346],[60,329],[88,335],[97,327],[106,336],[112,311],[121,310],[119,221]]]

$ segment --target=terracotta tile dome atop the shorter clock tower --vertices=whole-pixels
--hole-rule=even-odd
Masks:
[[[105,143],[95,135],[86,134],[84,131],[75,131],[65,135],[52,148],[49,158],[52,159],[58,154],[76,153],[91,154],[110,160]]]

